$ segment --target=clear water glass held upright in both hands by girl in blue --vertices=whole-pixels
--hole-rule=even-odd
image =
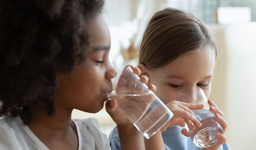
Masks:
[[[214,113],[210,111],[208,99],[204,94],[204,91],[198,87],[184,88],[178,94],[178,101],[204,104],[204,108],[201,110],[192,110],[193,114],[202,123],[200,128],[195,130],[189,130],[190,137],[193,144],[199,148],[208,148],[215,145],[218,142],[218,138],[215,134],[223,133],[221,125],[214,119]]]

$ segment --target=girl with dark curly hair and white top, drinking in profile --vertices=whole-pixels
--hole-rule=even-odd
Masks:
[[[103,6],[103,0],[0,0],[0,150],[111,149],[97,120],[71,119],[73,109],[101,110],[116,75]],[[122,124],[117,102],[106,109],[123,150],[145,149],[136,128]],[[154,142],[162,148],[159,138],[151,141],[151,150]]]

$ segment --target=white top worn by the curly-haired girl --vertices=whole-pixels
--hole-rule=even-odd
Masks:
[[[111,150],[107,135],[94,118],[73,120],[78,134],[78,150]],[[0,150],[49,150],[24,125],[20,117],[0,119]]]

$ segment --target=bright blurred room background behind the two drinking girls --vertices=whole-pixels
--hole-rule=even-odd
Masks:
[[[231,150],[255,150],[256,0],[106,0],[104,18],[112,39],[110,60],[117,72],[137,65],[141,35],[150,17],[164,7],[193,13],[213,32],[218,57],[212,93],[225,113]],[[74,110],[72,118],[95,117],[107,135],[114,127],[104,109],[96,114]]]

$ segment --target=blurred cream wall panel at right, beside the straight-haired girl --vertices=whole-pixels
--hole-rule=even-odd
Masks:
[[[218,58],[211,99],[224,111],[231,150],[253,150],[256,135],[256,23],[212,26]]]

